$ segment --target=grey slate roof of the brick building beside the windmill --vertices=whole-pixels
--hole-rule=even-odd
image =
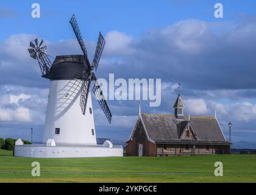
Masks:
[[[155,143],[215,143],[229,144],[222,134],[215,116],[184,116],[177,120],[174,115],[157,115],[141,113],[141,119],[148,137]],[[180,133],[190,124],[196,140],[180,140]]]

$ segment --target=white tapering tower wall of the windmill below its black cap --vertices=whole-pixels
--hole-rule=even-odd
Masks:
[[[96,144],[91,93],[88,96],[85,115],[82,115],[80,82],[79,79],[51,81],[43,143],[48,139],[54,139],[55,143]],[[55,134],[55,128],[60,128],[59,135]],[[94,130],[94,135],[91,129]]]

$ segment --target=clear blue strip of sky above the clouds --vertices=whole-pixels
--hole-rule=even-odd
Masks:
[[[47,40],[73,38],[67,21],[75,13],[80,21],[84,38],[96,40],[99,30],[119,30],[137,37],[146,30],[163,28],[179,20],[194,18],[216,22],[213,15],[218,1],[36,1],[41,6],[41,18],[30,17],[35,1],[1,1],[1,9],[9,10],[8,19],[1,18],[4,29],[0,40],[12,34],[37,34]],[[254,15],[254,1],[221,1],[224,18],[221,21],[237,22],[246,15]],[[219,22],[219,21],[218,21]]]

